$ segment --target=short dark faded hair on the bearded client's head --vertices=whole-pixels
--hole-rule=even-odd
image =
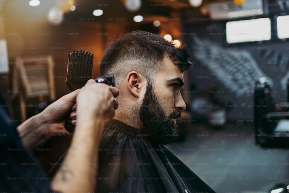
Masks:
[[[175,47],[174,43],[162,36],[144,31],[133,31],[112,41],[105,50],[100,62],[101,75],[114,73],[125,77],[136,71],[149,78],[162,67],[165,57],[179,67],[181,72],[192,66],[186,46]]]

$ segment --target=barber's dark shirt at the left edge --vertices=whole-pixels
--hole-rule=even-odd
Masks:
[[[49,178],[23,146],[0,92],[0,192],[50,192]]]

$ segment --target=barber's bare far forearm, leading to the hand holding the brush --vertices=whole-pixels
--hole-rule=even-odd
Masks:
[[[43,120],[41,114],[35,115],[17,127],[19,136],[23,144],[29,149],[44,144],[48,139],[46,120]]]

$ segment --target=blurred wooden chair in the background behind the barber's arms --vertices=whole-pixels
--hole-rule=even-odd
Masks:
[[[45,97],[49,97],[51,101],[55,101],[53,67],[51,55],[16,56],[12,80],[14,93],[11,100],[19,95],[22,122],[27,119],[27,100],[38,98],[42,102]]]

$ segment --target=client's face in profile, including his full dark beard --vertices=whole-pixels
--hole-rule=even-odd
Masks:
[[[147,81],[147,90],[140,107],[140,120],[143,130],[151,134],[157,144],[169,144],[177,136],[176,119],[186,105],[180,89],[184,85],[184,76],[179,68],[168,58],[164,68],[157,72],[153,83]]]

